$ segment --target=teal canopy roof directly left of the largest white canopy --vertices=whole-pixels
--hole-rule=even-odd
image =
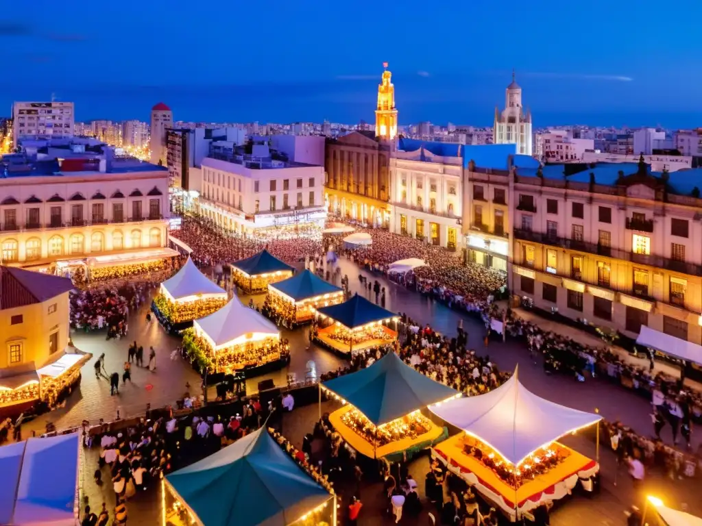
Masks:
[[[414,370],[395,353],[366,369],[322,384],[362,412],[376,426],[458,394]]]

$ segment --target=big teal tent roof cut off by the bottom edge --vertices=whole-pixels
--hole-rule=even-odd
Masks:
[[[205,526],[285,526],[331,499],[265,428],[166,482]]]

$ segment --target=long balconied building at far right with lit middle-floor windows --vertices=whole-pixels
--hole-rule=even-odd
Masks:
[[[619,175],[616,165],[568,177],[547,168],[513,178],[510,289],[633,339],[646,325],[700,344],[702,200],[687,187],[702,174],[644,162]]]

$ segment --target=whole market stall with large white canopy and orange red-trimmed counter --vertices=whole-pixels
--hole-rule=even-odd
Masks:
[[[591,490],[600,470],[597,461],[557,440],[601,417],[539,398],[519,383],[516,371],[493,391],[430,410],[465,431],[435,445],[432,457],[512,521],[567,496],[578,481]]]

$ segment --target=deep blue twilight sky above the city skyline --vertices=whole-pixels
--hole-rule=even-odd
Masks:
[[[702,0],[7,0],[0,111],[79,120],[491,125],[512,67],[536,126],[702,126]]]

